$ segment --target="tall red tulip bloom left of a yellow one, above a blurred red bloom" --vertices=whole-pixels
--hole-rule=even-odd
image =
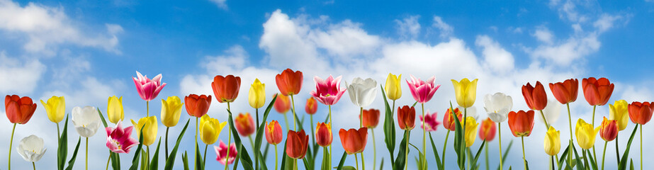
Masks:
[[[213,82],[211,82],[213,94],[216,101],[220,103],[234,101],[239,96],[240,87],[241,77],[234,77],[234,75],[227,75],[227,77],[218,75],[213,77]]]

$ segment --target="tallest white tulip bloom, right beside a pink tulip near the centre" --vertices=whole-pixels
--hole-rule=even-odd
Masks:
[[[345,86],[352,103],[361,108],[370,106],[377,96],[377,81],[371,78],[363,80],[356,77],[352,80],[352,84],[348,85],[346,81]]]

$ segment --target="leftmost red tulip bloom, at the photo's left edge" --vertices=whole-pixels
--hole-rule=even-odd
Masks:
[[[34,115],[36,103],[28,96],[21,98],[18,95],[7,95],[4,98],[4,109],[9,122],[25,124]]]

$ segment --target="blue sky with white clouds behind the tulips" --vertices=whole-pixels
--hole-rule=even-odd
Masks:
[[[422,79],[435,76],[443,86],[425,107],[439,113],[444,113],[454,97],[449,79],[479,78],[475,103],[479,119],[486,116],[483,95],[498,91],[513,96],[514,110],[526,109],[519,88],[536,80],[549,83],[607,77],[616,84],[609,103],[650,101],[654,90],[648,84],[653,81],[646,73],[652,69],[646,63],[654,53],[650,47],[653,10],[652,1],[0,0],[0,92],[35,100],[65,96],[67,111],[87,105],[106,111],[106,98],[123,96],[125,120],[129,120],[145,115],[145,102],[130,79],[135,71],[149,77],[163,74],[168,85],[159,98],[213,94],[211,78],[235,74],[242,77],[243,84],[234,110],[253,112],[246,94],[254,78],[268,85],[266,94],[271,96],[277,91],[274,75],[291,68],[305,72],[298,107],[314,89],[313,76],[343,75],[344,81],[371,77],[383,84],[388,72],[403,74],[403,78],[409,74]],[[398,102],[412,103],[406,84],[402,87],[404,96]],[[355,128],[356,117],[352,116],[358,108],[348,98],[344,96],[334,107],[334,117],[340,118],[334,120],[334,128]],[[158,115],[160,103],[155,101],[151,114]],[[379,94],[371,107],[381,108],[382,104]],[[571,107],[573,120],[590,120],[592,110],[582,94]],[[224,108],[215,102],[209,114],[225,120]],[[324,118],[326,110],[321,106],[316,119]],[[565,138],[565,111],[560,115],[563,120],[556,121],[561,108],[558,110],[551,114]],[[598,113],[598,120],[608,116],[608,106],[600,107]],[[183,114],[181,121],[187,118]],[[271,119],[283,117],[273,114]],[[3,134],[9,135],[9,121],[2,119],[0,124],[6,129]],[[50,141],[46,145],[50,154],[37,166],[55,164],[52,141],[56,136],[48,131],[53,125],[39,105],[33,120],[17,128],[14,141],[31,134]],[[526,141],[534,146],[528,147],[528,159],[546,158],[541,148],[542,126],[537,123],[534,135]],[[159,127],[163,134],[163,125]],[[507,126],[502,129],[508,132]],[[178,126],[171,132],[179,130]],[[378,153],[388,162],[381,129],[376,130]],[[439,138],[434,139],[436,146],[442,146],[444,132],[442,128],[435,132]],[[645,126],[645,132],[652,131]],[[74,131],[70,134],[76,135]],[[103,135],[98,132],[91,138],[92,147],[104,147]],[[184,144],[192,146],[191,136],[185,137]],[[412,142],[422,142],[422,137],[414,136]],[[221,139],[226,137],[223,132]],[[504,133],[503,139],[514,137]],[[339,142],[334,137],[336,153],[342,152]],[[7,143],[0,141],[0,145]],[[490,144],[497,146],[497,141]],[[475,143],[478,145],[480,142]],[[512,149],[508,162],[519,167],[517,148]],[[490,153],[497,153],[497,147],[491,147]],[[614,159],[609,153],[607,159]],[[90,154],[91,160],[106,160],[104,151]],[[12,158],[15,167],[29,166],[16,154]],[[353,164],[350,159],[348,164]],[[366,160],[371,164],[370,142]],[[83,167],[80,162],[78,159],[78,169]],[[612,163],[607,166],[615,166]],[[208,162],[208,166],[222,167],[218,162]],[[645,166],[654,164],[645,162]]]

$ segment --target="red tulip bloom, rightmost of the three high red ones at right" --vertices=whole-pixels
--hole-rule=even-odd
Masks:
[[[590,77],[581,81],[584,89],[584,97],[590,106],[604,106],[609,102],[615,84],[612,84],[607,78],[595,79]]]

